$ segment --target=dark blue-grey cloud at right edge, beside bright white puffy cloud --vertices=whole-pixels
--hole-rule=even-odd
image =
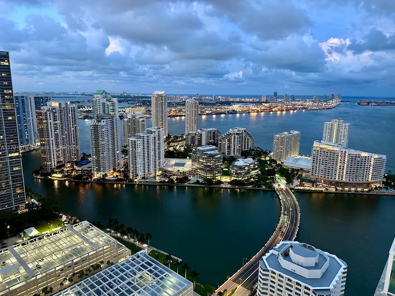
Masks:
[[[355,53],[362,53],[365,51],[385,51],[395,49],[395,35],[386,36],[380,30],[372,28],[368,34],[365,35],[362,41],[351,39],[348,49]]]

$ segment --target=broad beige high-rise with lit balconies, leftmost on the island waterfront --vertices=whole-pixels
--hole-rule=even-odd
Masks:
[[[50,101],[36,114],[43,170],[49,172],[67,161],[79,161],[77,106]]]

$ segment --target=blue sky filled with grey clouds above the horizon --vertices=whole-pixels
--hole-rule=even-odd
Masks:
[[[395,96],[395,1],[0,0],[15,91]]]

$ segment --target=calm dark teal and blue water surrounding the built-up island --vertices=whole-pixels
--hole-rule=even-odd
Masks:
[[[394,170],[394,108],[343,103],[332,110],[201,116],[200,127],[246,127],[256,145],[271,150],[273,135],[301,131],[301,154],[321,139],[324,121],[350,122],[352,148],[387,155]],[[80,120],[81,151],[89,151],[90,120]],[[150,126],[150,122],[147,123]],[[184,118],[169,118],[169,132],[182,133]],[[84,136],[83,136],[84,135]],[[23,154],[26,187],[58,200],[64,212],[103,224],[110,217],[152,232],[152,245],[182,258],[199,281],[216,285],[240,266],[243,257],[265,244],[280,207],[272,191],[192,187],[98,185],[34,180],[38,151]],[[395,234],[395,198],[375,195],[297,193],[301,207],[298,240],[333,253],[349,266],[346,296],[372,295]],[[369,266],[369,268],[367,267]]]

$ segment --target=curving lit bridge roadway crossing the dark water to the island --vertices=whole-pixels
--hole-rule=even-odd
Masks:
[[[276,185],[275,189],[282,204],[281,217],[276,230],[262,249],[260,249],[252,259],[246,262],[246,264],[233,274],[224,284],[218,287],[215,291],[216,293],[225,289],[230,293],[233,289],[237,288],[233,293],[233,296],[247,295],[250,289],[258,283],[259,261],[262,257],[280,241],[294,240],[296,238],[300,222],[300,212],[297,200],[289,188],[281,188]]]

